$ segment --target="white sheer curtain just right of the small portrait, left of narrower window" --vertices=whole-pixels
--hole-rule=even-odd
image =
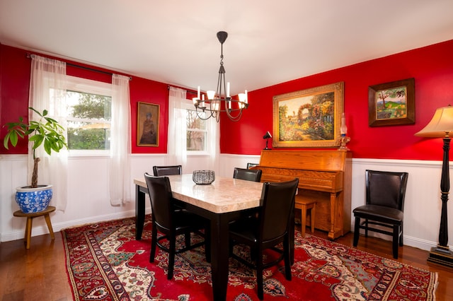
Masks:
[[[170,87],[168,97],[168,138],[166,165],[182,165],[187,163],[186,146],[186,90]]]

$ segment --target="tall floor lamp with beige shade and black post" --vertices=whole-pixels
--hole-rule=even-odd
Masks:
[[[442,176],[440,179],[440,200],[442,201],[442,214],[440,217],[439,242],[437,247],[432,247],[428,261],[435,264],[453,267],[453,252],[448,247],[447,201],[450,189],[449,176],[449,149],[453,136],[453,107],[440,107],[434,113],[431,121],[415,136],[444,139],[444,158],[442,161]]]

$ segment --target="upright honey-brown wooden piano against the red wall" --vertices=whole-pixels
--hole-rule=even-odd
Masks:
[[[261,151],[261,182],[299,178],[296,202],[315,199],[315,228],[335,240],[350,231],[352,154],[348,151]]]

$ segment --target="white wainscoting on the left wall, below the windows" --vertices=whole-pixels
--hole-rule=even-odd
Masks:
[[[152,174],[154,165],[166,165],[166,154],[134,154],[131,160],[132,178]],[[183,172],[207,169],[207,156],[188,158]],[[135,203],[111,206],[109,201],[109,158],[108,156],[70,156],[68,160],[67,209],[51,213],[55,232],[64,228],[134,216]],[[13,217],[18,210],[15,201],[16,187],[27,184],[27,156],[2,155],[0,159],[0,242],[23,238],[25,218]],[[232,172],[231,172],[232,175]],[[131,180],[132,198],[135,187]],[[50,203],[52,205],[52,202]],[[151,212],[149,201],[147,213]],[[33,219],[32,236],[48,233],[44,218]]]

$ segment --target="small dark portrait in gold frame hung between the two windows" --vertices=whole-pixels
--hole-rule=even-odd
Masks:
[[[137,146],[159,146],[159,105],[138,102]]]

